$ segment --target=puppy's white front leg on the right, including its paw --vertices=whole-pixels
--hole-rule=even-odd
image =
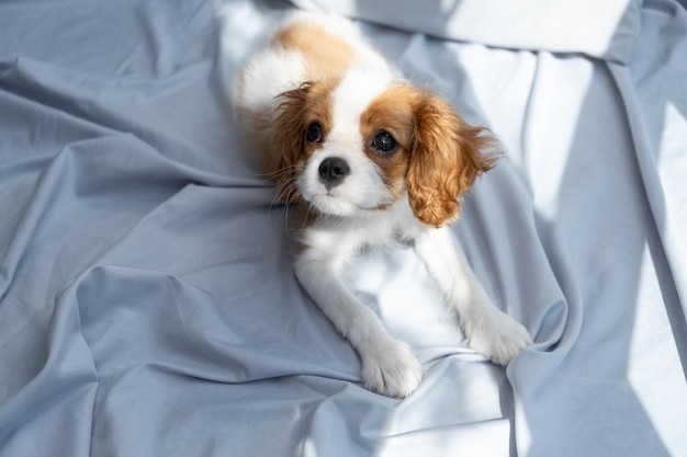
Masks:
[[[415,239],[415,251],[458,313],[473,350],[506,365],[531,344],[527,329],[492,302],[449,228],[425,230]]]

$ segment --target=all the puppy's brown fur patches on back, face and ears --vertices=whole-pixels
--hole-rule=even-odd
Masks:
[[[354,50],[317,24],[297,22],[279,31],[274,39],[305,57],[308,82],[279,95],[270,148],[278,196],[300,198],[296,179],[307,158],[320,146],[305,140],[307,126],[318,122],[324,135],[331,129],[329,93],[354,60]],[[259,121],[259,119],[258,119]],[[370,148],[380,130],[390,133],[397,150],[380,155]],[[446,101],[398,82],[374,100],[360,119],[363,147],[383,173],[395,198],[407,190],[410,208],[424,224],[440,227],[455,219],[460,195],[497,160],[482,150],[493,145],[485,129],[465,123]]]

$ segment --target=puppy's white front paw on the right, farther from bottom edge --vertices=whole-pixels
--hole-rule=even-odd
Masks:
[[[532,344],[527,329],[497,309],[478,324],[466,325],[465,330],[473,350],[503,366]]]

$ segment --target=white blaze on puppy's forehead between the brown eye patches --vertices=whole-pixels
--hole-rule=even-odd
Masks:
[[[333,93],[333,121],[329,139],[336,142],[360,142],[360,116],[380,96],[392,75],[384,71],[350,69]]]

